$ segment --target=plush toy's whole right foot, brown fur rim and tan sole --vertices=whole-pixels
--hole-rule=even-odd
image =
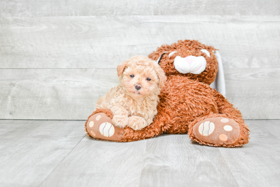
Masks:
[[[208,114],[189,124],[189,137],[209,146],[238,147],[249,142],[244,120],[226,114]]]

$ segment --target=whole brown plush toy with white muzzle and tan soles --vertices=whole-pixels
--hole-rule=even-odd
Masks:
[[[96,139],[130,142],[162,133],[184,134],[209,146],[236,147],[249,142],[249,129],[239,110],[209,85],[215,80],[218,62],[212,46],[195,40],[162,45],[149,55],[167,76],[161,89],[153,122],[141,129],[112,125],[108,109],[96,109],[85,131]]]

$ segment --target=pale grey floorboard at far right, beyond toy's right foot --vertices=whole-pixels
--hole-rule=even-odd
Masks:
[[[279,186],[280,120],[245,120],[249,144],[219,149],[238,186]]]

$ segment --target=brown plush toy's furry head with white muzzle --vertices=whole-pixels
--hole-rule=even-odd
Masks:
[[[212,46],[203,45],[197,40],[179,40],[171,45],[162,45],[149,54],[157,61],[166,76],[181,75],[190,79],[211,84],[218,71],[218,62]]]

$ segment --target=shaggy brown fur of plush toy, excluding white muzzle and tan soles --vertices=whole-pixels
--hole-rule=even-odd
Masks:
[[[207,49],[210,57],[202,53],[201,49]],[[217,59],[212,52],[216,50],[195,40],[178,41],[172,45],[162,45],[149,55],[151,59],[158,59],[164,51],[160,66],[167,75],[167,83],[159,95],[160,102],[157,106],[157,115],[153,123],[142,130],[134,131],[126,127],[123,142],[142,140],[155,137],[164,132],[169,134],[189,133],[189,137],[200,144],[210,146],[237,147],[249,142],[249,128],[242,119],[241,112],[233,107],[221,93],[209,87],[217,74]],[[178,51],[169,58],[169,53]],[[205,71],[198,75],[191,73],[179,73],[173,61],[176,55],[185,57],[187,55],[203,55],[207,60]],[[214,145],[198,140],[193,135],[193,126],[211,117],[227,117],[234,119],[240,127],[238,140],[229,145]]]

